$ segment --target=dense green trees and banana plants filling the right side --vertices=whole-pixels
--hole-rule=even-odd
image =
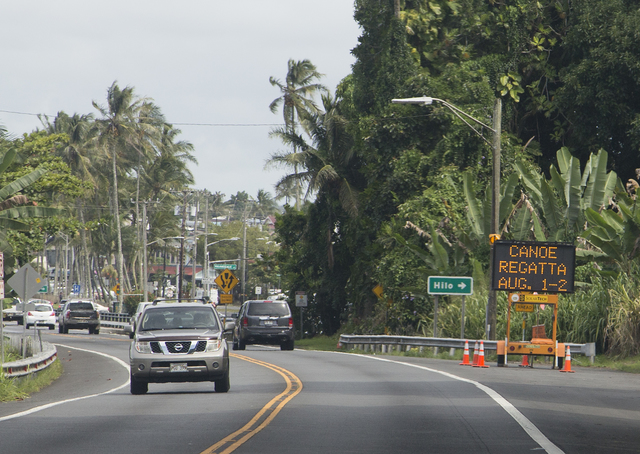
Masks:
[[[311,296],[306,329],[429,334],[426,279],[449,274],[474,276],[467,332],[483,336],[491,131],[474,131],[437,102],[391,99],[432,96],[490,125],[500,97],[503,237],[575,243],[580,284],[562,298],[560,339],[636,351],[639,334],[625,323],[638,301],[625,283],[634,278],[620,280],[621,271],[637,277],[640,237],[635,2],[355,6],[362,36],[352,74],[335,98],[323,97],[320,112],[298,112],[303,132],[280,135],[297,147],[303,172],[332,171],[305,180],[315,199],[287,209],[277,224],[291,296]],[[377,284],[380,299],[372,292]],[[459,298],[443,300],[440,331],[457,336]],[[498,305],[504,325],[506,295]]]

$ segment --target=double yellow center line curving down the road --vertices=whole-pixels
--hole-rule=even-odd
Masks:
[[[231,356],[277,372],[282,376],[282,378],[284,378],[287,386],[282,393],[278,394],[276,397],[271,399],[269,403],[262,407],[262,409],[251,419],[251,421],[245,424],[244,427],[220,440],[207,450],[202,451],[201,454],[229,454],[235,451],[247,442],[247,440],[267,427],[269,423],[273,421],[273,418],[280,413],[280,410],[282,410],[282,408],[287,405],[291,399],[296,397],[298,393],[302,391],[302,381],[287,369],[283,369],[282,367],[278,367],[271,363],[249,358],[248,356],[238,355],[235,353],[232,353]]]

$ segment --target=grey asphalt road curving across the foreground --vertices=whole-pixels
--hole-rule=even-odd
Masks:
[[[233,352],[228,394],[178,383],[132,396],[127,337],[45,337],[64,375],[0,404],[2,454],[640,452],[632,374],[249,346]]]

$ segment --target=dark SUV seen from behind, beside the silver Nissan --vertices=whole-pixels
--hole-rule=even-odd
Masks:
[[[279,344],[293,350],[293,317],[286,301],[246,301],[238,313],[233,349],[247,344]]]

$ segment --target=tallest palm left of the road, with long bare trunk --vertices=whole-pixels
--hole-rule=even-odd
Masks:
[[[144,113],[148,108],[149,100],[138,98],[134,93],[133,87],[125,87],[120,89],[117,82],[113,82],[107,89],[107,105],[101,106],[93,101],[95,107],[102,118],[96,120],[98,126],[98,142],[102,145],[105,154],[111,158],[112,176],[113,176],[113,213],[117,225],[118,237],[118,254],[116,263],[118,267],[118,279],[121,285],[124,284],[124,264],[122,254],[122,229],[120,225],[120,207],[118,198],[118,156],[124,158],[127,164],[126,149],[136,140],[137,131],[144,117]],[[130,168],[130,167],[129,167]],[[119,292],[118,302],[122,309],[123,291]]]

